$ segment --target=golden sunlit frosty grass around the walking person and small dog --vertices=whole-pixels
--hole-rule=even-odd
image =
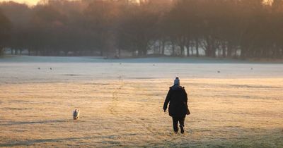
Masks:
[[[184,135],[162,111],[171,84],[122,76],[2,82],[0,147],[282,147],[283,78],[182,79],[192,113]]]

